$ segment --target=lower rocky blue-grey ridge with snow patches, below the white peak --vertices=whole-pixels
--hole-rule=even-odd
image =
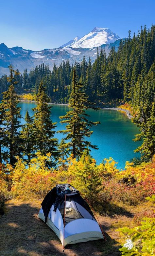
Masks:
[[[114,46],[117,51],[120,40],[116,40],[111,44],[103,44],[98,49],[105,49],[105,53],[108,55],[110,49]],[[31,68],[35,68],[36,65],[44,63],[49,65],[52,70],[54,63],[57,66],[67,59],[69,59],[70,65],[75,61],[82,61],[85,55],[86,61],[89,61],[89,56],[94,62],[97,54],[97,48],[56,48],[56,49],[44,49],[41,51],[31,51],[23,49],[22,47],[8,48],[4,43],[0,44],[0,76],[9,74],[8,66],[13,65],[14,69],[18,69],[22,74],[27,68],[30,71]]]

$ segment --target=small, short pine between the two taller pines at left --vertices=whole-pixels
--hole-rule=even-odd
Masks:
[[[28,111],[26,111],[25,122],[22,127],[21,138],[23,153],[27,156],[27,162],[29,163],[35,152],[35,137],[33,134],[33,118],[29,116]]]

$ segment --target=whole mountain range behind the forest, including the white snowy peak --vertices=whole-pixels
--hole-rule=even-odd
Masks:
[[[59,65],[67,59],[69,59],[70,65],[72,65],[75,61],[82,61],[84,55],[86,61],[89,61],[89,57],[91,57],[93,63],[96,58],[97,47],[99,47],[99,51],[104,48],[105,53],[108,55],[113,46],[117,51],[119,43],[120,39],[117,34],[113,33],[110,29],[97,27],[82,38],[77,36],[55,49],[44,49],[35,52],[18,46],[8,48],[2,43],[0,44],[0,76],[9,74],[8,66],[10,64],[23,73],[25,68],[30,71],[31,68],[42,63],[49,65],[51,70],[54,63]]]

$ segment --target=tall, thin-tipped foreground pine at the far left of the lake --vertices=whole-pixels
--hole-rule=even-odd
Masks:
[[[14,71],[12,65],[9,66],[10,75],[7,77],[9,82],[9,88],[3,93],[3,99],[1,103],[1,109],[3,109],[2,123],[4,128],[3,133],[3,146],[6,148],[6,152],[2,154],[5,161],[9,160],[10,164],[14,164],[15,156],[21,156],[20,148],[20,110],[17,107],[19,103],[19,96],[16,94],[15,85],[18,83],[14,78],[15,75],[19,75]]]

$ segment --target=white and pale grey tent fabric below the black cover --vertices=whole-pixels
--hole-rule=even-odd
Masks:
[[[60,210],[53,211],[54,204],[48,213],[46,224],[56,233],[63,246],[103,239],[102,231],[92,215],[80,204],[68,197],[65,204],[65,226]],[[45,221],[43,209],[40,209],[38,217]]]

